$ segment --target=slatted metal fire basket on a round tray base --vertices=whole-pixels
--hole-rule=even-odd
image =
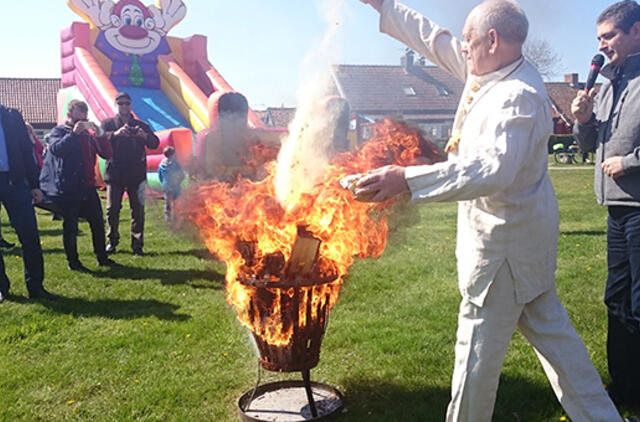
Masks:
[[[310,370],[320,359],[320,346],[325,332],[330,298],[312,300],[314,287],[331,283],[337,274],[320,275],[316,261],[320,240],[303,227],[298,227],[298,237],[287,263],[281,255],[267,257],[264,270],[251,277],[241,277],[240,283],[255,289],[249,306],[251,320],[270,315],[271,305],[280,303],[280,319],[284,331],[292,331],[286,345],[269,344],[253,333],[260,352],[260,366],[277,372],[300,372],[302,381],[282,381],[259,385],[238,400],[241,417],[246,421],[306,421],[323,420],[342,409],[342,394],[325,384],[311,382]],[[238,249],[247,262],[255,253],[254,245],[243,243]],[[274,280],[273,274],[279,274]],[[301,305],[302,304],[302,305]],[[301,308],[302,306],[302,308]],[[300,326],[301,309],[306,323]],[[311,316],[315,317],[312,318]],[[299,400],[304,391],[306,401]]]

